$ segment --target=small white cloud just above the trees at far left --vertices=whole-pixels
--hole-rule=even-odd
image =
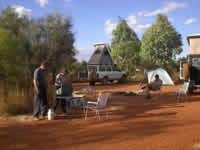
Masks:
[[[13,10],[18,14],[19,17],[29,16],[32,13],[31,9],[26,9],[24,6],[15,5],[12,6]]]

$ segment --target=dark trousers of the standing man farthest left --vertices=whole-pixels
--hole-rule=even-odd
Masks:
[[[39,95],[34,91],[34,111],[33,111],[34,117],[38,117],[40,112],[42,116],[45,116],[47,114],[47,109],[48,109],[46,90],[42,89],[39,91],[40,91]]]

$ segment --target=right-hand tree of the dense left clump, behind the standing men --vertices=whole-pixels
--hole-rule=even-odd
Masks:
[[[74,49],[74,33],[72,32],[72,22],[70,18],[63,17],[59,12],[47,15],[38,20],[40,28],[40,42],[43,48],[41,56],[46,56],[49,60],[49,70],[52,73],[52,81],[59,67],[74,61],[76,51]]]

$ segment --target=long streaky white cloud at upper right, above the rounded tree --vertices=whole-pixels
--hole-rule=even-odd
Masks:
[[[186,8],[187,3],[177,3],[177,2],[169,2],[166,3],[167,6],[161,9],[157,9],[153,12],[140,12],[138,15],[143,15],[145,17],[156,16],[158,14],[168,14],[171,11],[176,10],[177,8]]]

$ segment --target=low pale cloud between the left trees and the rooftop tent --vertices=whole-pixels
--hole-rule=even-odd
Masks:
[[[88,61],[93,54],[92,48],[77,48],[78,54],[75,56],[79,61]]]

